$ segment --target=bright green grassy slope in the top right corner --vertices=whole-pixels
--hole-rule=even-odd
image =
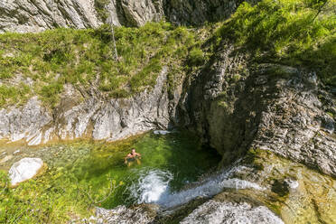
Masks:
[[[243,51],[252,51],[257,62],[313,68],[336,86],[335,8],[335,0],[243,3],[217,39],[233,40]]]

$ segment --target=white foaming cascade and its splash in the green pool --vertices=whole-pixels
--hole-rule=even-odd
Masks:
[[[247,182],[237,178],[229,178],[229,175],[245,169],[242,166],[235,166],[227,171],[217,173],[200,182],[198,186],[179,192],[171,192],[169,182],[173,180],[173,174],[168,171],[151,170],[142,173],[138,182],[129,188],[131,196],[137,199],[138,203],[157,203],[164,209],[182,205],[198,197],[210,197],[223,191],[224,188],[232,189],[256,189],[264,191],[255,182]]]

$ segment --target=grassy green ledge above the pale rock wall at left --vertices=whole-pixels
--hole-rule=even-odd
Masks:
[[[181,68],[191,47],[198,44],[189,29],[170,23],[117,27],[115,35],[118,61],[114,60],[108,25],[97,30],[1,34],[0,91],[4,94],[0,107],[33,95],[55,107],[66,83],[75,88],[96,88],[110,97],[128,97],[153,88],[163,66]],[[18,77],[33,84],[13,83]]]

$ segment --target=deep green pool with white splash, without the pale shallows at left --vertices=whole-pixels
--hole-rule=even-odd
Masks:
[[[131,148],[142,154],[141,164],[127,167],[123,158]],[[212,149],[201,150],[195,137],[185,133],[144,135],[123,147],[102,147],[90,151],[70,167],[79,180],[90,182],[94,188],[104,185],[106,176],[125,182],[114,197],[102,206],[119,204],[162,203],[165,198],[196,182],[219,163]]]

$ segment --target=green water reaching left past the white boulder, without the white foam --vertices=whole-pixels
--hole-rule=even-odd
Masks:
[[[15,146],[12,151],[17,148]],[[133,163],[127,167],[124,158],[132,148],[142,154],[141,164]],[[4,150],[13,154],[8,147]],[[185,132],[169,135],[148,133],[109,144],[76,141],[33,148],[21,146],[20,153],[12,157],[2,164],[2,169],[9,169],[23,157],[42,158],[49,169],[43,178],[37,179],[41,179],[37,186],[41,189],[47,185],[61,188],[73,192],[71,197],[78,197],[77,189],[81,189],[89,192],[95,201],[100,201],[108,194],[112,180],[124,182],[106,201],[96,204],[105,208],[135,203],[136,198],[130,197],[129,187],[142,180],[145,172],[159,170],[171,173],[173,179],[169,182],[169,192],[180,191],[188,183],[196,182],[203,173],[215,169],[220,158],[215,150],[201,148],[197,137]],[[56,177],[58,183],[52,181]]]

